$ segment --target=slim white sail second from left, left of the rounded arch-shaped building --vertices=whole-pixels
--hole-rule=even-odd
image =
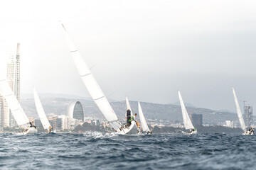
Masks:
[[[41,104],[40,98],[38,97],[38,94],[36,93],[35,88],[33,88],[33,94],[34,94],[34,99],[36,104],[36,111],[38,112],[38,116],[41,120],[43,128],[49,130],[50,123],[48,118],[46,117],[46,113],[43,111],[43,106]]]

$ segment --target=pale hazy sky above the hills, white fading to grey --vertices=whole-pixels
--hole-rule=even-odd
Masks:
[[[0,72],[21,42],[21,93],[89,96],[59,20],[105,95],[235,111],[256,103],[256,1],[5,1]],[[240,103],[242,106],[242,102]]]

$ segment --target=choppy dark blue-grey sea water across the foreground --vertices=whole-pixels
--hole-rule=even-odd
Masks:
[[[0,169],[256,169],[256,136],[0,134]]]

